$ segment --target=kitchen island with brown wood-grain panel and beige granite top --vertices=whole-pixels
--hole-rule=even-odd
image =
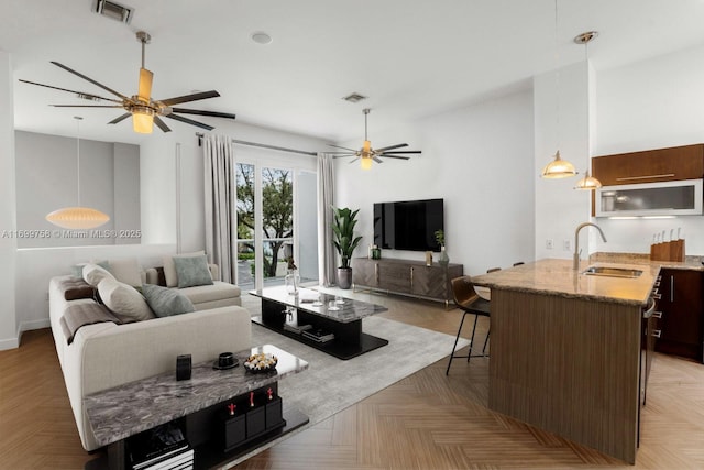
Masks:
[[[490,408],[636,461],[641,321],[659,266],[625,278],[541,260],[472,277],[491,288]]]

